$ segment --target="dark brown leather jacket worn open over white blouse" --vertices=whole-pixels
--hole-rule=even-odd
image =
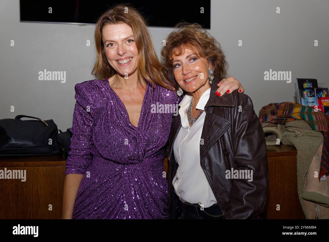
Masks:
[[[265,135],[249,96],[239,93],[215,95],[215,79],[205,105],[206,117],[200,144],[200,165],[223,213],[223,219],[260,218],[266,208],[268,165]],[[178,197],[172,185],[178,164],[173,143],[181,127],[173,116],[168,146],[169,217],[177,218]],[[226,179],[226,171],[253,171],[249,179]]]

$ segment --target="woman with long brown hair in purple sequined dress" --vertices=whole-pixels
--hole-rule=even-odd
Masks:
[[[173,113],[151,107],[175,105],[176,90],[131,6],[117,5],[98,19],[95,46],[97,79],[75,85],[62,217],[166,219],[163,159]],[[224,91],[242,88],[233,78],[224,81]]]

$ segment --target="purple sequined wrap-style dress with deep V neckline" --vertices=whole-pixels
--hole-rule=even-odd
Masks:
[[[163,160],[173,113],[151,107],[175,106],[176,92],[147,81],[138,127],[108,79],[76,84],[75,99],[65,175],[84,177],[72,218],[167,219]]]

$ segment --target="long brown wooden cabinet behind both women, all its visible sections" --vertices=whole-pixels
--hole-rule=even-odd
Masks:
[[[267,219],[305,218],[297,196],[296,154],[292,146],[267,146]],[[0,157],[0,170],[26,170],[25,182],[0,179],[0,219],[60,219],[65,164],[60,154]]]

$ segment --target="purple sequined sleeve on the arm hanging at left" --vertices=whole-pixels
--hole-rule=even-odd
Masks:
[[[76,103],[71,128],[71,150],[66,159],[65,175],[85,174],[92,161],[90,155],[94,127],[94,120],[90,114],[92,99],[80,83],[76,84],[74,89]]]

